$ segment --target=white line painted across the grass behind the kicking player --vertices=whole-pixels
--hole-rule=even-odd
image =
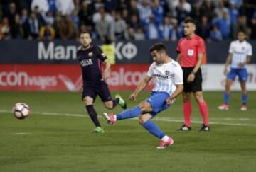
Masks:
[[[0,113],[11,113],[10,110],[0,110]],[[32,112],[38,115],[54,115],[54,116],[69,116],[69,117],[88,117],[85,114],[75,114],[75,113],[46,113],[46,112]],[[102,116],[98,116],[102,117]],[[216,119],[216,118],[215,118]],[[229,118],[226,118],[229,119]],[[248,119],[248,118],[231,118],[231,119]],[[137,118],[133,118],[131,120],[137,120]],[[154,117],[156,121],[163,121],[163,122],[183,122],[183,119],[171,119],[170,117]],[[221,120],[221,119],[220,119]],[[201,124],[201,121],[191,120],[192,123]],[[247,127],[256,127],[256,124],[241,124],[241,123],[228,123],[228,122],[213,122],[210,121],[210,124],[214,125],[236,125],[236,126],[247,126]]]

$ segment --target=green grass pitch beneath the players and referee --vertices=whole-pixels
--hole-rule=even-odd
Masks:
[[[131,91],[119,92],[124,98]],[[112,92],[112,95],[117,92]],[[105,134],[94,129],[80,93],[0,92],[0,171],[256,171],[256,92],[249,92],[246,112],[240,111],[240,92],[233,92],[230,110],[220,111],[222,92],[205,92],[211,131],[198,132],[201,115],[193,101],[193,130],[178,132],[183,121],[181,97],[154,121],[174,138],[174,145],[156,149],[159,140],[137,120],[109,126],[100,98],[95,109]],[[128,101],[128,108],[137,105]],[[14,103],[25,102],[31,116],[17,120]]]

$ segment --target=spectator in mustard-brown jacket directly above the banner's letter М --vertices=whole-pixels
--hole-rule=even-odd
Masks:
[[[40,40],[53,40],[55,38],[55,30],[50,23],[46,23],[40,28],[39,39]]]

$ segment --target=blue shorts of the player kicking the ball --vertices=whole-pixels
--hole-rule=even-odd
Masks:
[[[155,117],[157,113],[170,107],[170,105],[166,103],[166,99],[169,98],[169,96],[169,93],[166,92],[151,92],[151,97],[147,98],[146,101],[153,109],[153,113],[151,113],[152,117]]]

